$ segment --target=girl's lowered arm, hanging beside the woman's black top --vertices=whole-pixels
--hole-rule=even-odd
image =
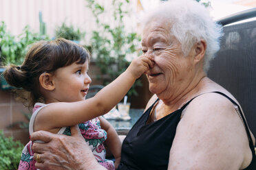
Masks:
[[[100,119],[101,128],[107,132],[106,144],[116,159],[115,169],[117,169],[118,165],[120,164],[120,160],[121,160],[122,143],[121,143],[120,138],[118,137],[118,134],[117,134],[116,130],[114,129],[114,127],[103,117],[98,117],[98,119]]]

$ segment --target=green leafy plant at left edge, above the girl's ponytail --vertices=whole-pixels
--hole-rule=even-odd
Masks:
[[[6,30],[6,24],[0,23],[1,62],[6,64],[21,64],[25,58],[28,45],[43,39],[39,34],[32,33],[27,25],[19,36],[12,36]],[[49,39],[45,37],[45,39]]]

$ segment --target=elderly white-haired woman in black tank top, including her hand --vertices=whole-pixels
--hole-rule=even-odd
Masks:
[[[238,101],[206,76],[222,29],[192,0],[162,3],[145,19],[143,55],[154,93],[122,143],[118,169],[256,169],[255,138]],[[73,136],[35,132],[39,169],[103,169]],[[76,145],[84,147],[77,154]],[[76,154],[74,154],[76,153]]]

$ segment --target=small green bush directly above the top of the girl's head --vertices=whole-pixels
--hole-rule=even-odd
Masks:
[[[67,40],[81,40],[85,33],[81,32],[80,29],[74,29],[72,25],[68,26],[65,23],[62,23],[60,27],[57,27],[55,30],[56,38],[65,38]]]

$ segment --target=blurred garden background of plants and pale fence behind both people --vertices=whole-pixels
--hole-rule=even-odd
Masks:
[[[209,8],[215,20],[256,7],[255,0],[196,1]],[[6,64],[21,64],[32,42],[63,37],[89,49],[92,85],[105,86],[140,56],[140,21],[144,12],[159,3],[162,1],[0,0],[0,74]],[[7,148],[23,148],[29,139],[31,111],[15,99],[12,89],[1,77],[0,169],[15,169],[12,160],[19,161],[20,155]],[[151,95],[145,76],[127,93],[131,108],[136,109],[145,108]],[[5,136],[12,139],[8,141]]]

